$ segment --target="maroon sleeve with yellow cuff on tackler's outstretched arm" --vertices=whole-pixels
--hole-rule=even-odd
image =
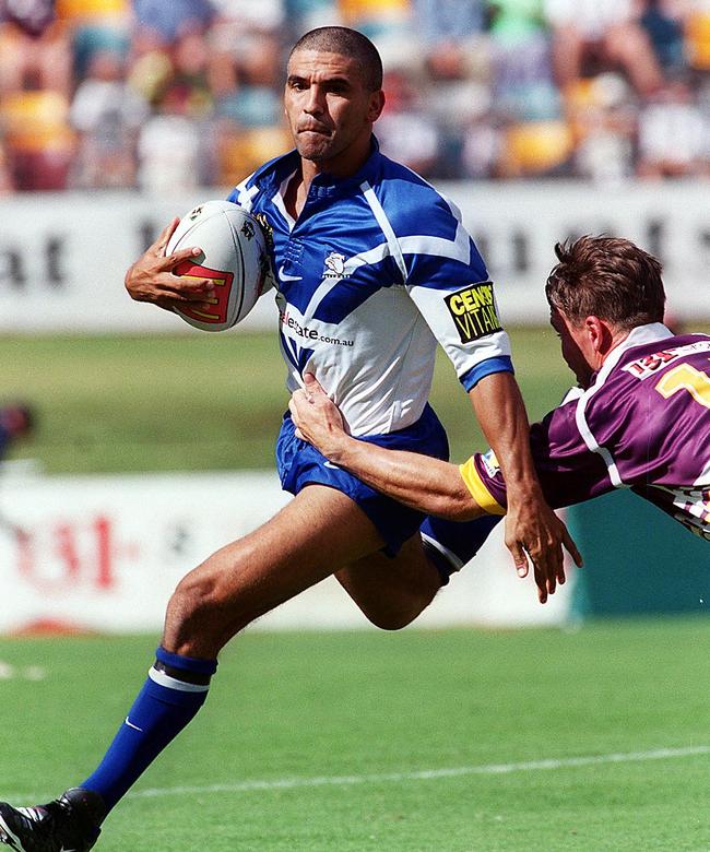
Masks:
[[[553,508],[571,506],[614,490],[602,459],[591,452],[576,424],[576,400],[551,412],[530,429],[533,462],[545,499]],[[502,514],[506,483],[495,454],[475,453],[461,466],[461,476],[484,511]]]

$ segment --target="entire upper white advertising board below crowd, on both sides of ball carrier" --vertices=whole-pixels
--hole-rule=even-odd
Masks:
[[[664,262],[676,317],[710,319],[707,184],[470,182],[440,189],[461,209],[508,323],[546,322],[543,287],[555,242],[600,233],[628,237]],[[0,332],[201,333],[131,301],[123,276],[173,216],[225,196],[211,188],[159,200],[114,191],[2,198]],[[268,294],[239,328],[275,327],[275,317]]]

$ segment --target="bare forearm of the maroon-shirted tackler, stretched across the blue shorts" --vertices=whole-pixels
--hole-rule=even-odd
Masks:
[[[427,514],[458,521],[484,514],[455,464],[384,449],[344,434],[327,454],[371,488]]]

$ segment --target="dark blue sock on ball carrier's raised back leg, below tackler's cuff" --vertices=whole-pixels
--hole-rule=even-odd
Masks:
[[[419,534],[427,556],[441,577],[441,585],[473,559],[499,520],[497,514],[485,514],[474,521],[445,521],[431,514],[424,519]]]

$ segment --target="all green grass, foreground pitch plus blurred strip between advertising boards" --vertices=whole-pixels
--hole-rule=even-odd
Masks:
[[[513,330],[532,418],[571,383]],[[271,468],[273,335],[0,338],[13,452],[49,473]],[[483,438],[443,357],[452,455]],[[0,605],[2,595],[0,592]],[[710,850],[707,619],[576,631],[247,632],[200,718],[106,824],[100,852]],[[0,797],[80,782],[157,637],[0,638]]]

